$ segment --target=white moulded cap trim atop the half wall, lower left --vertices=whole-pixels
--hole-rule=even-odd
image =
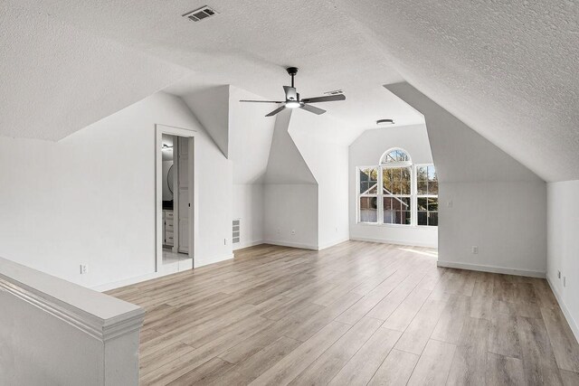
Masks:
[[[145,310],[139,306],[2,258],[0,290],[101,342],[138,331],[145,317]]]

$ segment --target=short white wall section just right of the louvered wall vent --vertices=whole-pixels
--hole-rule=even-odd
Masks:
[[[233,220],[241,220],[241,249],[263,242],[263,184],[233,184]]]

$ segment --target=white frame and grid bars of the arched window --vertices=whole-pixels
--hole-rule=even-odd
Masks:
[[[389,162],[383,163],[384,157],[394,150],[401,150],[406,155],[408,155],[410,161],[403,161],[403,162]],[[356,224],[360,225],[371,225],[371,226],[381,226],[381,227],[411,227],[411,228],[438,228],[438,225],[418,225],[418,175],[417,175],[417,168],[424,167],[424,166],[433,166],[434,170],[436,170],[436,166],[433,163],[429,164],[413,164],[412,157],[410,153],[400,147],[393,147],[384,152],[384,154],[380,157],[379,165],[365,165],[365,166],[356,166]],[[395,197],[409,197],[411,202],[411,214],[410,214],[410,224],[393,224],[393,223],[384,223],[384,197],[388,197],[384,194],[384,169],[394,169],[394,168],[402,168],[402,167],[410,167],[410,194],[395,194]],[[364,194],[360,193],[360,174],[364,169],[376,169],[378,171],[377,175],[377,184],[378,189],[376,194]],[[437,178],[438,180],[438,178]],[[440,185],[439,185],[440,189]],[[376,198],[376,222],[367,222],[361,221],[360,219],[360,198],[361,197],[375,197]],[[436,197],[438,199],[439,195],[436,194],[421,194],[420,197]],[[440,208],[440,202],[439,202]],[[440,210],[438,211],[440,213]]]

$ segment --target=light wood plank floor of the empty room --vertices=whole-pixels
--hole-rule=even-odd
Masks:
[[[437,268],[432,249],[261,245],[109,294],[147,309],[143,385],[579,385],[544,279]]]

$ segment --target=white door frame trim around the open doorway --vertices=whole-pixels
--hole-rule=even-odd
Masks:
[[[192,161],[192,167],[189,168],[189,252],[190,258],[195,259],[195,249],[197,243],[195,242],[197,233],[197,184],[195,173],[195,136],[198,134],[197,130],[174,127],[163,124],[155,124],[155,272],[161,272],[163,267],[163,135],[187,137],[189,138],[189,155]],[[175,155],[175,152],[174,152]],[[175,164],[174,164],[175,165]],[[175,202],[175,199],[174,199]],[[175,207],[174,207],[175,211]],[[195,263],[195,261],[194,261]],[[195,264],[193,264],[195,266]]]

